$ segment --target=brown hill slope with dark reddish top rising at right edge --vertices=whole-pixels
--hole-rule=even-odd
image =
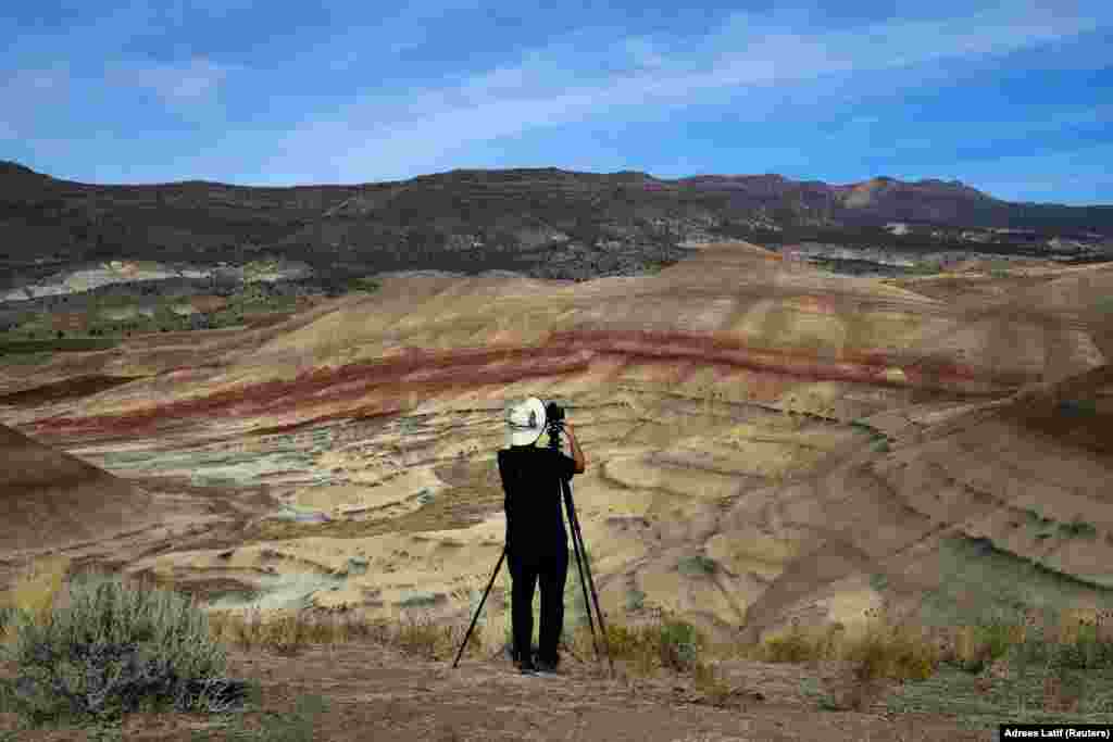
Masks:
[[[1057,402],[1056,402],[1057,400]],[[936,625],[1024,604],[1113,605],[1113,366],[1003,402],[879,413],[885,455],[848,458],[749,527],[810,534],[747,615],[746,635],[821,623],[856,592]],[[979,558],[985,557],[985,558]]]

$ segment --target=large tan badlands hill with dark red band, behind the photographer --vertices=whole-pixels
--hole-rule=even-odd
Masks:
[[[1113,528],[1094,443],[1104,392],[1082,384],[1074,417],[1057,402],[1038,419],[1008,410],[1090,378],[1107,330],[1092,297],[1040,300],[1070,299],[1066,274],[1035,280],[999,301],[933,298],[739,243],[580,284],[395,276],[224,335],[176,376],[18,418],[121,476],[266,485],[290,513],[247,526],[239,547],[128,565],[240,580],[265,607],[465,614],[504,528],[502,405],[524,395],[578,423],[575,498],[614,615],[670,609],[719,637],[885,601],[954,620],[937,607],[957,604],[948,591],[976,591],[969,574],[1017,584],[1025,560],[1084,581],[1070,590],[1095,603]],[[141,366],[156,346],[114,363]],[[1043,578],[1036,593],[1066,590]],[[489,610],[498,634],[503,609]]]

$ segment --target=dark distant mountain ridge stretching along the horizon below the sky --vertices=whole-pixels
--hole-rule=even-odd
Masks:
[[[776,174],[664,179],[550,167],[361,185],[104,186],[4,161],[0,289],[120,258],[268,257],[317,275],[505,269],[580,279],[674,263],[692,241],[877,244],[889,240],[892,222],[932,227],[903,233],[899,246],[913,249],[965,249],[966,228],[1028,230],[1035,241],[1113,239],[1113,206],[1012,204],[958,180],[829,185]]]

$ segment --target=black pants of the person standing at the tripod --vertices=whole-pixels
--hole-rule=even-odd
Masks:
[[[514,657],[530,656],[533,640],[533,590],[541,582],[541,631],[538,657],[556,662],[556,644],[564,627],[564,581],[568,578],[568,546],[545,553],[511,554],[513,577],[511,622]]]

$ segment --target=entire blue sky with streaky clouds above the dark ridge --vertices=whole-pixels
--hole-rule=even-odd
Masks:
[[[1113,204],[1107,0],[6,0],[0,38],[0,159],[86,182],[553,166]]]

